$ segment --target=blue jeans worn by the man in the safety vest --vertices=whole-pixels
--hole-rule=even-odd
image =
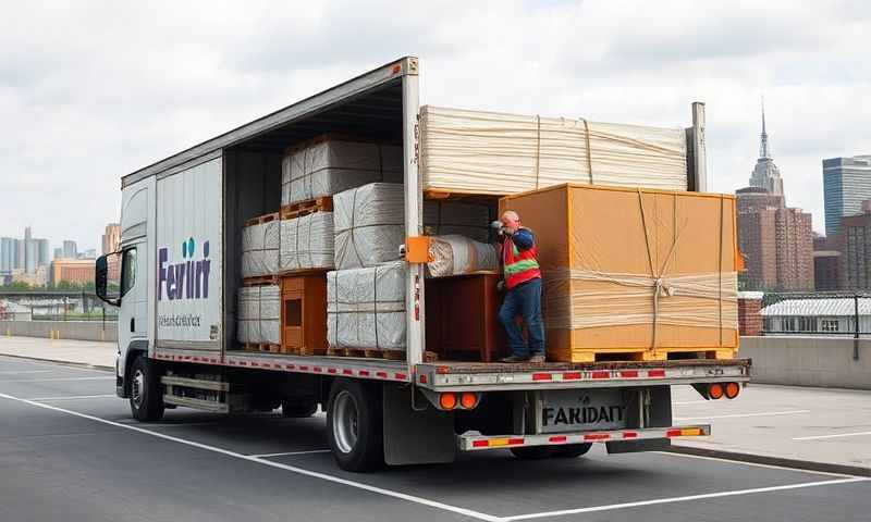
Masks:
[[[520,315],[529,332],[529,346],[526,345],[520,328],[514,321]],[[541,321],[541,279],[529,279],[510,289],[499,310],[499,320],[508,336],[512,355],[529,357],[544,355],[544,323]]]

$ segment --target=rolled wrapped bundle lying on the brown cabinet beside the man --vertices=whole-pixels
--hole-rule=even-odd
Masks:
[[[432,237],[429,253],[433,260],[427,263],[427,270],[432,277],[499,270],[499,254],[493,245],[464,236]]]

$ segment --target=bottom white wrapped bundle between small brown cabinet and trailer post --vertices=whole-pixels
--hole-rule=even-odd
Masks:
[[[405,262],[327,273],[332,348],[405,350]]]

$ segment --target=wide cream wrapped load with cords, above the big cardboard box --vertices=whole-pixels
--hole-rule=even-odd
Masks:
[[[683,128],[426,105],[422,188],[510,195],[562,183],[686,190]]]

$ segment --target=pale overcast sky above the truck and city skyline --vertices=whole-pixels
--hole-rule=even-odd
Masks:
[[[122,175],[405,54],[421,103],[684,127],[704,101],[725,192],[764,95],[817,231],[821,160],[871,153],[863,0],[33,3],[2,1],[0,236],[52,248],[99,249]]]

